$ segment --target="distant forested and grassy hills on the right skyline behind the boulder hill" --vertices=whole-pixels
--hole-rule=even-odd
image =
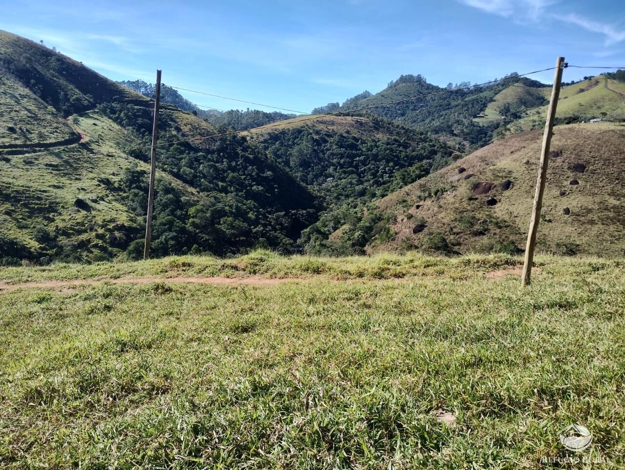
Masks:
[[[367,112],[435,134],[470,150],[482,147],[492,139],[542,128],[551,86],[515,73],[484,86],[466,82],[450,83],[446,88],[427,83],[421,75],[402,75],[379,93],[365,91],[340,105],[329,103],[313,112],[346,112],[428,94],[434,96],[372,108]],[[616,74],[587,77],[562,87],[557,123],[582,123],[590,119],[625,120],[625,84],[616,78]]]

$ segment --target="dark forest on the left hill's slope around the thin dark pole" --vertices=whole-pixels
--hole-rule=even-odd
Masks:
[[[149,143],[149,110],[125,103],[105,103],[98,109],[125,126],[142,143]],[[171,114],[159,117],[159,143],[184,138]],[[148,161],[145,149],[131,151]],[[316,220],[319,204],[311,192],[262,149],[237,135],[201,143],[161,146],[158,168],[197,189],[196,200],[185,200],[171,184],[160,181],[154,204],[155,255],[189,251],[215,254],[254,246],[294,250],[294,240]],[[124,174],[128,207],[144,216],[148,178],[131,168]],[[142,244],[131,246],[131,254]]]

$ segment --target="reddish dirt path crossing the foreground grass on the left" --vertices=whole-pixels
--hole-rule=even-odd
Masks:
[[[76,279],[74,281],[40,281],[22,282],[21,284],[7,284],[0,281],[0,292],[14,291],[15,289],[32,289],[37,287],[52,287],[53,289],[71,289],[78,286],[99,286],[104,282],[111,284],[149,284],[150,282],[187,282],[190,284],[217,284],[225,286],[272,286],[287,281],[301,281],[298,278],[267,279],[266,277],[125,277],[121,279]]]

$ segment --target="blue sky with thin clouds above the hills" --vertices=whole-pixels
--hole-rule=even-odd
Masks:
[[[154,81],[160,68],[166,84],[306,112],[376,93],[401,74],[446,86],[551,67],[558,55],[625,66],[622,0],[3,3],[0,29],[109,78]],[[569,68],[564,80],[598,73]],[[551,82],[552,72],[534,78]]]

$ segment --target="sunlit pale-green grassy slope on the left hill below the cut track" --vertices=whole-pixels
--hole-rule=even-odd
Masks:
[[[61,245],[81,249],[83,259],[119,256],[121,250],[106,243],[108,233],[116,232],[115,224],[143,224],[143,219],[129,211],[119,180],[131,163],[146,173],[149,165],[119,153],[134,141],[98,111],[72,116],[69,121],[83,134],[83,143],[23,154],[11,151],[0,161],[0,234],[37,249],[33,231],[46,227],[58,234]],[[117,154],[94,155],[111,152]],[[20,166],[29,163],[41,164]],[[157,175],[184,187],[189,195],[196,194],[169,174],[159,171]],[[91,210],[75,207],[77,198],[87,201]]]

